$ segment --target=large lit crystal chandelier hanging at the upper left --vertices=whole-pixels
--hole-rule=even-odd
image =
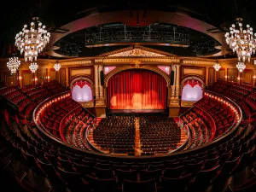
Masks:
[[[45,30],[45,26],[38,21],[38,17],[33,20],[35,22],[30,24],[30,28],[25,25],[22,32],[17,33],[15,37],[15,46],[20,50],[20,54],[24,52],[25,61],[37,61],[38,53],[49,43],[50,34]]]

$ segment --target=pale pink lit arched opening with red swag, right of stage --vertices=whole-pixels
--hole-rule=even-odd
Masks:
[[[203,96],[203,88],[200,81],[189,79],[183,83],[182,100],[196,102]]]

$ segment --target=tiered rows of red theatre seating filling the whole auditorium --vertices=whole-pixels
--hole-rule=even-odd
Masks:
[[[32,93],[42,88],[36,91],[32,87],[28,90],[4,87],[0,89],[1,96],[19,106],[19,110],[5,108],[1,111],[1,189],[253,192],[256,122],[248,120],[254,117],[253,105],[248,102],[254,101],[254,90],[243,85],[219,84],[221,86],[213,85],[212,92],[206,91],[193,108],[183,113],[178,124],[164,117],[127,116],[102,119],[99,129],[96,117],[74,102],[69,92],[57,89],[61,85],[56,82],[43,86],[50,95],[40,103],[40,99],[33,100]],[[54,91],[50,91],[50,87],[55,87]],[[240,94],[230,94],[235,92]],[[15,99],[17,96],[19,100]],[[32,100],[34,107],[30,107],[31,112],[26,115]],[[245,114],[242,120],[238,106]],[[182,151],[172,154],[101,154],[87,141],[88,131],[98,129],[95,139],[102,148],[119,143],[118,148],[124,146],[121,149],[130,152],[137,142],[135,135],[140,137],[140,147],[144,151],[147,148],[146,152],[148,148],[172,150],[172,141],[179,136],[179,126],[188,127],[190,137]],[[119,137],[109,136],[113,133]],[[162,147],[157,147],[158,144]]]

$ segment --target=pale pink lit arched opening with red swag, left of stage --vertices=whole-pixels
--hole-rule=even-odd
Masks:
[[[76,102],[90,102],[93,100],[90,83],[84,80],[76,81],[72,86],[72,98]]]

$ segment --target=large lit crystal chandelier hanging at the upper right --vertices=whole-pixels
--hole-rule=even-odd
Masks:
[[[256,49],[256,33],[253,37],[253,28],[247,25],[246,29],[242,28],[241,18],[236,19],[238,27],[233,24],[230,27],[230,32],[226,32],[225,38],[227,44],[230,44],[230,49],[236,52],[238,61],[250,61],[251,55]]]

